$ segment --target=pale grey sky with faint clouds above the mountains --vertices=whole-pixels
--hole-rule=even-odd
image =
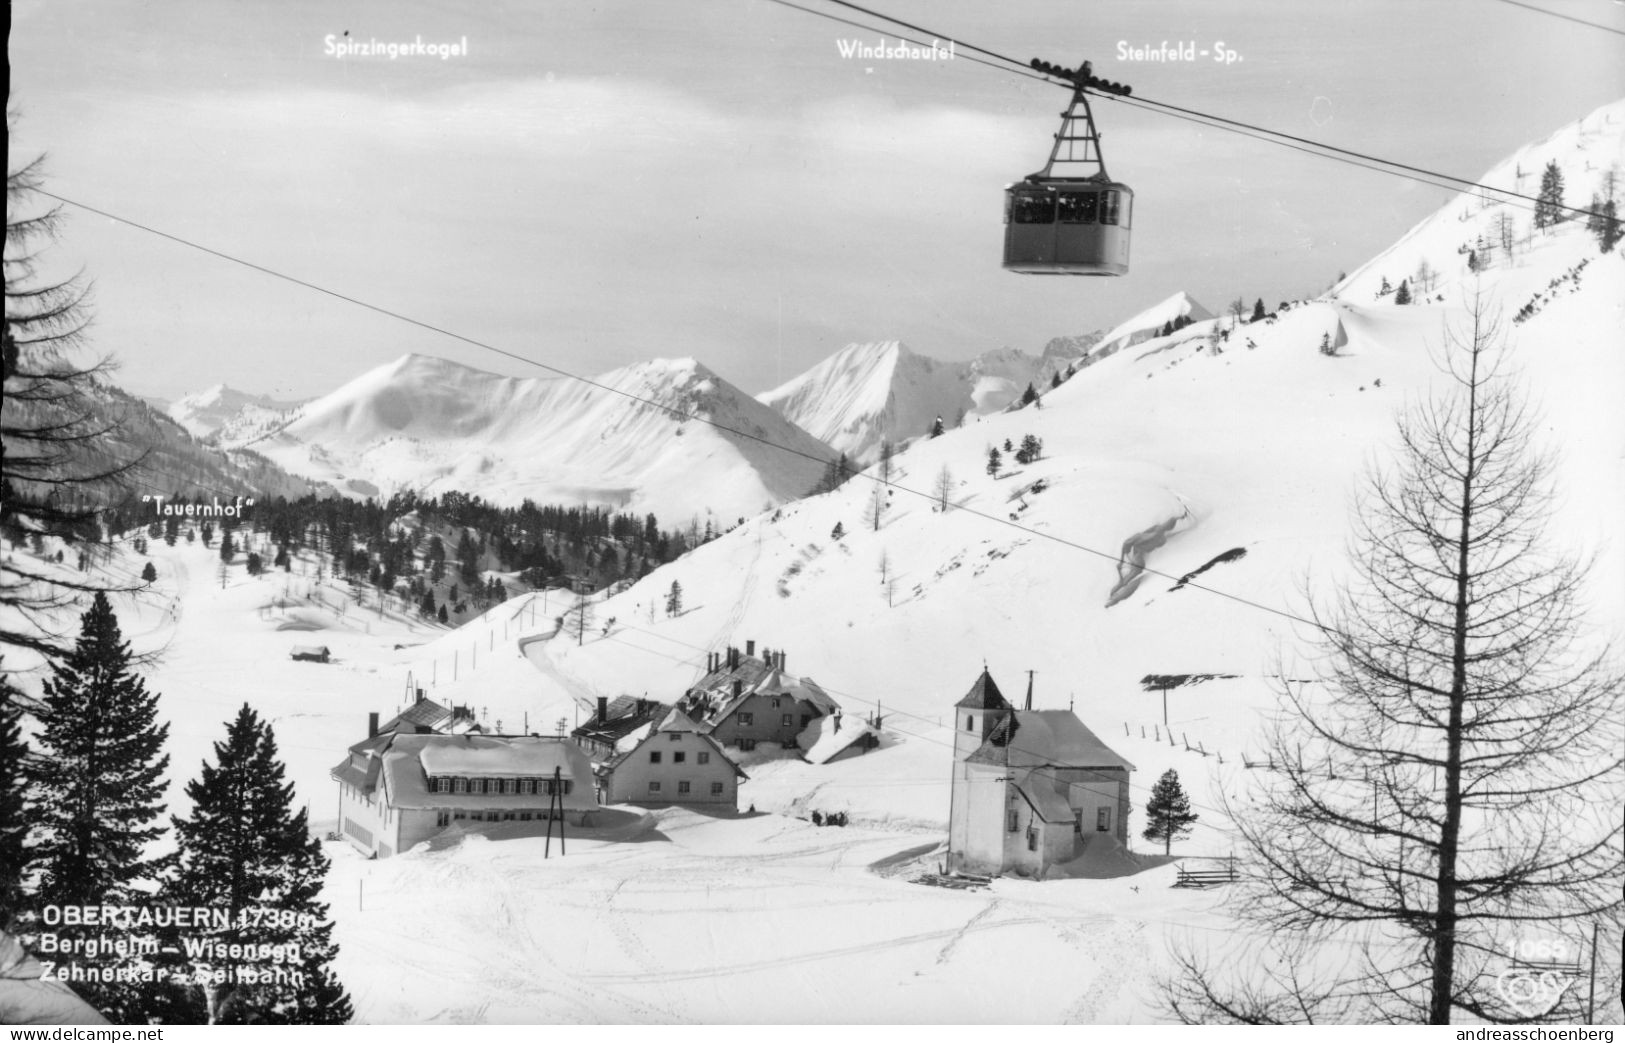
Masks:
[[[829,0],[804,6],[871,18]],[[1474,179],[1625,96],[1614,0],[876,0],[1017,58]],[[1097,102],[1128,276],[1003,271],[1003,187],[1066,91],[772,0],[13,3],[11,164],[76,203],[593,375],[694,356],[757,393],[852,341],[1037,353],[1186,291],[1306,297],[1450,192]],[[1560,18],[1557,15],[1565,15]],[[1578,21],[1599,23],[1592,28]],[[1609,29],[1612,28],[1612,29]],[[346,37],[348,34],[348,37]],[[338,54],[344,41],[466,47]],[[1181,63],[1124,49],[1228,50]],[[128,390],[315,396],[406,353],[543,370],[68,206]]]

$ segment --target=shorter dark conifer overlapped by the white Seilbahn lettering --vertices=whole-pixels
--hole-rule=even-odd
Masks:
[[[214,764],[187,783],[192,814],[172,819],[179,840],[169,887],[176,905],[229,910],[224,928],[193,931],[221,946],[297,946],[299,962],[273,965],[184,952],[193,972],[226,972],[228,981],[192,986],[188,1014],[211,1024],[341,1025],[353,1015],[330,963],[333,924],[318,895],[328,858],[310,837],[306,809],[284,781],[276,736],[244,703],[214,744]],[[244,915],[254,910],[254,915]],[[263,910],[263,911],[262,911]],[[270,915],[266,915],[270,913]],[[254,980],[273,968],[297,980]],[[292,975],[288,975],[292,976]]]

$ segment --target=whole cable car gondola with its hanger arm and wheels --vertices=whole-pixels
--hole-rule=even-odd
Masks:
[[[1134,192],[1107,175],[1086,88],[1126,96],[1131,88],[1034,58],[1038,71],[1072,84],[1050,162],[1004,187],[1004,266],[1024,275],[1128,275]],[[1064,149],[1064,154],[1063,154]],[[1058,164],[1071,174],[1056,172]],[[1079,169],[1081,167],[1081,169]]]

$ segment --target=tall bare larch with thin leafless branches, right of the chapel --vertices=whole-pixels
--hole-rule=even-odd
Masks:
[[[1280,694],[1276,772],[1225,799],[1237,916],[1274,941],[1180,950],[1181,1020],[1576,1017],[1584,989],[1542,1011],[1497,980],[1519,942],[1617,937],[1625,686],[1545,538],[1550,458],[1482,297],[1443,356],[1365,481],[1350,580],[1308,598],[1318,682]]]

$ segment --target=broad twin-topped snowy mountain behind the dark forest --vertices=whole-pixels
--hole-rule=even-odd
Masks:
[[[455,489],[496,504],[653,512],[673,525],[707,513],[733,525],[791,500],[834,457],[694,359],[585,383],[499,377],[421,354],[304,405],[252,447],[356,496]]]

